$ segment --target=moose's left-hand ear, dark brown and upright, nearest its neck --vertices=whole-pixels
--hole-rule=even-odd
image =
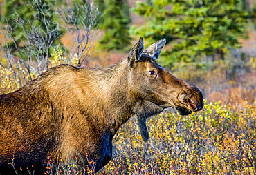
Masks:
[[[140,60],[140,56],[141,54],[143,54],[143,50],[143,37],[140,37],[140,40],[134,44],[134,47],[131,48],[131,51],[129,52],[127,59],[129,67],[132,68],[134,66],[134,63]]]

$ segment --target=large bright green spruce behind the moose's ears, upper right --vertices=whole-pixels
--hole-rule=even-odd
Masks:
[[[197,56],[224,59],[229,48],[240,47],[237,36],[244,32],[247,17],[242,4],[242,0],[138,3],[134,10],[150,20],[133,31],[152,42],[162,38],[171,42],[172,49],[161,54],[170,67],[177,61],[196,61]]]

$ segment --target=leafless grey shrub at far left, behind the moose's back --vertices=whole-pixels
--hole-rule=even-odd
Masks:
[[[59,26],[53,22],[49,15],[51,9],[48,8],[46,3],[42,3],[41,0],[33,0],[27,6],[31,6],[36,11],[32,21],[22,19],[19,13],[15,13],[15,19],[6,21],[7,24],[1,31],[5,41],[1,43],[0,48],[6,52],[9,68],[12,70],[15,79],[19,79],[21,86],[20,75],[23,76],[24,82],[28,83],[27,77],[32,81],[36,74],[41,74],[48,69],[50,48],[55,39],[59,37],[60,31]],[[15,34],[17,31],[19,31],[19,38],[22,41],[18,41],[19,38]],[[10,48],[10,41],[13,43],[13,48]],[[17,54],[18,61],[14,59],[14,55],[10,54],[11,52]],[[37,61],[37,66],[32,65],[33,60]],[[3,67],[3,64],[1,66]],[[22,68],[25,68],[26,71],[24,72]]]

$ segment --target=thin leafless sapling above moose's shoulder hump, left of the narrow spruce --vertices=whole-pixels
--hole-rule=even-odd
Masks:
[[[75,42],[75,52],[79,58],[77,66],[80,67],[82,63],[91,55],[89,54],[89,42],[93,43],[96,36],[92,28],[97,30],[98,19],[101,15],[93,3],[89,0],[80,1],[80,4],[75,4],[74,7],[62,6],[58,10],[62,27],[71,34]]]

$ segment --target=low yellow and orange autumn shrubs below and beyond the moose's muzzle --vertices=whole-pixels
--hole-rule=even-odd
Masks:
[[[159,114],[147,121],[147,143],[132,118],[100,174],[255,174],[255,108],[206,102],[190,116]]]

